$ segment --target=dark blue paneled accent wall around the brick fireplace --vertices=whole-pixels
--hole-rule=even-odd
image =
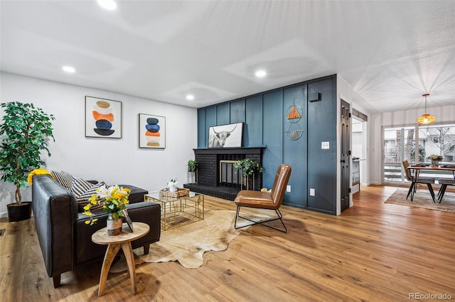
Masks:
[[[301,119],[287,118],[294,104]],[[198,108],[198,147],[207,147],[210,126],[243,122],[242,146],[266,146],[263,186],[272,187],[279,164],[290,164],[291,192],[284,204],[336,215],[336,112],[336,75],[264,91]],[[301,137],[290,140],[291,130]],[[323,141],[328,150],[321,150]]]

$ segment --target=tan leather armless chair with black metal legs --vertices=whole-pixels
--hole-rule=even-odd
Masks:
[[[280,220],[284,230],[279,228],[274,228],[270,225],[265,225],[269,228],[273,228],[275,230],[279,230],[281,232],[287,233],[286,225],[284,225],[282,219],[282,213],[279,211],[279,207],[282,205],[284,192],[286,192],[287,182],[289,181],[289,177],[291,176],[291,166],[289,164],[280,164],[277,169],[277,174],[275,175],[275,179],[273,182],[272,190],[270,192],[261,192],[261,191],[250,191],[250,190],[242,190],[240,191],[237,196],[235,197],[235,204],[237,205],[237,213],[235,215],[235,224],[234,227],[237,228],[245,228],[249,225],[255,225],[259,223],[266,223],[273,220]],[[269,218],[266,220],[252,220],[250,218],[245,218],[240,216],[240,208],[241,207],[247,208],[263,208],[267,210],[274,210],[277,213],[277,218]],[[249,220],[252,223],[248,225],[242,225],[237,227],[237,219],[242,218],[245,220]]]

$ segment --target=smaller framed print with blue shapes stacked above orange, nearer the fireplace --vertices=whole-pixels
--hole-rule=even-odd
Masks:
[[[166,117],[139,113],[139,148],[166,148]]]

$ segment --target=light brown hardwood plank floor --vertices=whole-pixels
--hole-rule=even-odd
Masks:
[[[341,216],[282,206],[289,233],[255,225],[225,252],[206,252],[198,269],[141,264],[136,296],[123,272],[109,274],[105,296],[97,298],[101,262],[63,274],[54,289],[33,219],[3,218],[0,301],[409,301],[413,293],[454,299],[455,213],[385,204],[395,189],[362,187]],[[235,205],[207,196],[205,208]]]

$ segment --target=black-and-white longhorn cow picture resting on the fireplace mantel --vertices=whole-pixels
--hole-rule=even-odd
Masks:
[[[243,123],[217,125],[208,128],[208,147],[242,147]]]

